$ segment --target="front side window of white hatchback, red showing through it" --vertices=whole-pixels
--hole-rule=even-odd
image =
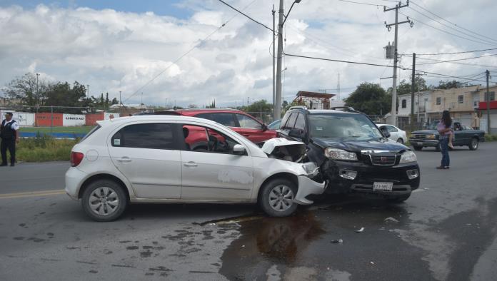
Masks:
[[[183,125],[186,150],[203,153],[233,154],[237,143],[219,131],[202,126]]]

